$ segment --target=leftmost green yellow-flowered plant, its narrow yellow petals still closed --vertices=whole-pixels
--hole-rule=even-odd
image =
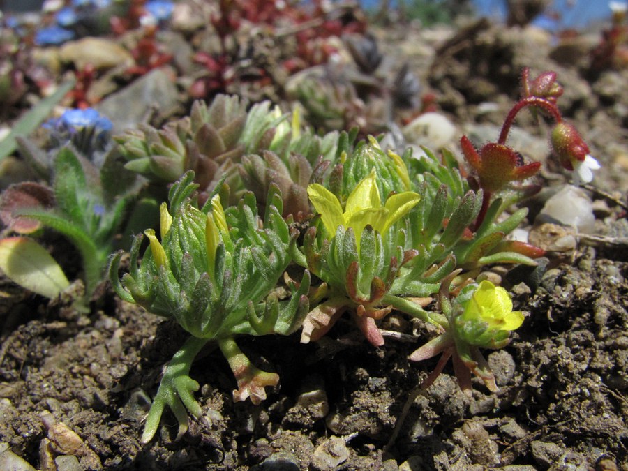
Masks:
[[[307,272],[298,288],[292,285],[289,300],[279,301],[273,294],[290,263],[288,247],[296,237],[281,217],[281,196],[276,188],[262,219],[251,193],[226,211],[218,195],[199,209],[193,178],[193,172],[187,172],[170,190],[170,208],[165,204],[160,208],[161,242],[153,230],[144,232],[150,248],[141,264],[138,266],[137,259],[142,236],[133,242],[130,274],[121,282],[121,253],[110,265],[112,283],[122,299],[174,318],[191,334],[163,375],[142,442],[155,434],[166,405],[179,421],[178,436],[188,427],[185,408],[200,417],[200,405],[192,395],[199,384],[189,377],[189,371],[194,357],[209,341],[218,343],[236,377],[234,401],[250,397],[253,403],[260,403],[266,398],[264,387],[276,386],[279,377],[253,366],[234,336],[290,334],[299,329],[308,311]]]

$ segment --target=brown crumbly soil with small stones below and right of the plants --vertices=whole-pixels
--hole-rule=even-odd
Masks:
[[[400,49],[420,36],[433,54],[428,33],[410,31]],[[604,165],[595,186],[625,192],[621,100],[628,98],[604,96],[617,81],[625,87],[625,71],[586,77],[577,64],[548,59],[549,49],[530,57],[522,37],[491,27],[441,51],[438,66],[426,68],[429,57],[420,56],[410,63],[458,124],[476,119],[469,110],[488,96],[498,104],[516,96],[522,65],[564,73],[567,86],[584,87],[566,101]],[[484,63],[491,67],[470,61],[488,57],[483,50],[495,52]],[[502,271],[515,308],[530,315],[509,346],[487,352],[496,394],[476,378],[465,396],[451,366],[419,391],[435,360],[414,364],[408,355],[431,331],[392,315],[383,327],[414,339],[389,334],[376,349],[347,320],[308,345],[299,334],[239,339],[257,366],[281,377],[257,406],[232,401],[230,368],[209,345],[191,371],[202,385],[202,418],[174,441],[176,421],[166,412],[156,438],[143,445],[150,397],[186,333],[111,292],[86,314],[5,283],[0,442],[45,470],[628,470],[626,211],[606,193],[590,194],[597,239],[548,253],[536,269]]]

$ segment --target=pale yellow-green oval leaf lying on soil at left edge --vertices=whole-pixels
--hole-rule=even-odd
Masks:
[[[47,298],[57,297],[70,285],[50,253],[27,237],[0,241],[0,269],[18,285]]]

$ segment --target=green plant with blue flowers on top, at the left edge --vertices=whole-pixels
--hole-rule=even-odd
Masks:
[[[1,195],[3,222],[18,234],[37,235],[48,227],[67,237],[82,257],[85,300],[89,300],[102,281],[108,257],[115,248],[117,234],[124,229],[130,203],[136,197],[134,176],[126,177],[110,149],[111,122],[96,110],[68,110],[59,119],[48,121],[53,148],[44,152],[27,140],[20,147],[40,177],[50,181],[52,188],[34,181],[10,186]],[[89,157],[89,158],[88,158]],[[3,239],[1,267],[17,283],[54,297],[67,282],[57,266],[50,286],[41,290],[38,278],[47,280],[52,258],[27,237]],[[16,241],[19,244],[16,244]],[[13,251],[19,250],[19,252]],[[32,254],[32,282],[15,269],[15,257]],[[54,262],[54,263],[53,263]],[[55,292],[56,290],[56,292]]]

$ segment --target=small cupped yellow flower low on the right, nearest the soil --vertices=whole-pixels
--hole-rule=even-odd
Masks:
[[[523,324],[523,312],[512,310],[512,301],[506,290],[490,281],[482,281],[473,293],[462,314],[462,320],[481,321],[493,331],[512,331]]]

